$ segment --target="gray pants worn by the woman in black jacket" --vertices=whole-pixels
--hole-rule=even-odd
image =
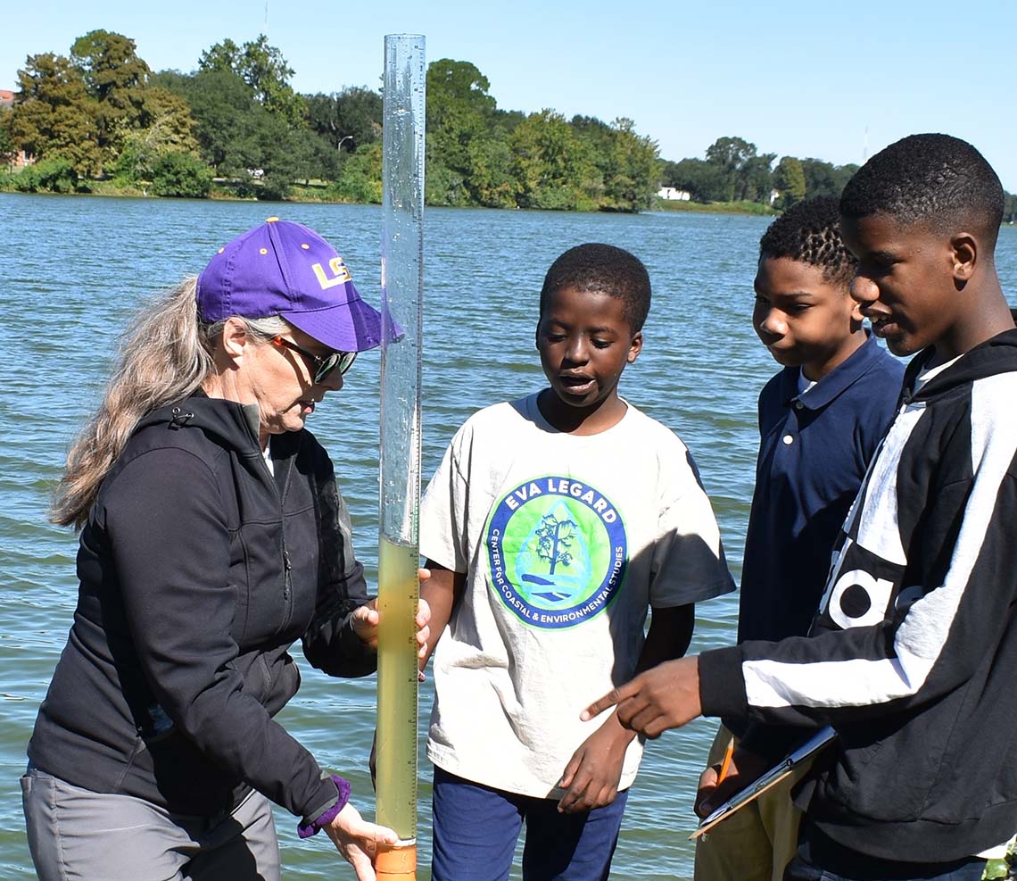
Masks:
[[[142,799],[72,786],[37,768],[21,777],[40,881],[280,881],[272,808],[251,792],[232,814],[171,814]]]

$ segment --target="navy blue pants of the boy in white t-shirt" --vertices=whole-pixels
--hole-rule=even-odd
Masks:
[[[524,821],[525,881],[604,881],[629,790],[604,808],[559,814],[556,799],[517,796],[434,768],[431,881],[504,881]]]

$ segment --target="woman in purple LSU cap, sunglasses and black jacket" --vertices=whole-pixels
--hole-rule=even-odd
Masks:
[[[139,316],[53,510],[81,528],[80,588],[22,777],[43,881],[279,879],[268,800],[374,878],[396,833],[273,716],[299,686],[296,639],[332,676],[376,665],[375,603],[304,421],[379,342],[339,254],[276,218]]]

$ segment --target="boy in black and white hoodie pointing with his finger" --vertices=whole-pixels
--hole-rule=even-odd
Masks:
[[[797,796],[791,881],[974,881],[1017,830],[1017,331],[993,258],[1002,212],[993,169],[947,135],[906,137],[851,179],[852,296],[892,352],[917,356],[810,636],[669,661],[584,714],[617,704],[649,737],[700,714],[832,724]],[[744,744],[722,786],[704,780],[701,813],[773,758]]]

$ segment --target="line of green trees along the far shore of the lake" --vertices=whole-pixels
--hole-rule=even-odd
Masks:
[[[13,107],[0,109],[0,158],[37,161],[0,175],[0,186],[88,191],[105,179],[157,195],[278,199],[302,183],[322,198],[379,202],[380,94],[301,95],[293,75],[263,35],[217,43],[183,73],[153,71],[123,35],[89,32],[68,55],[29,55],[18,70]],[[838,194],[857,168],[776,160],[736,136],[705,159],[662,160],[631,119],[501,110],[474,64],[443,58],[427,69],[428,204],[638,212],[663,185],[697,202],[779,209]],[[1017,197],[1007,210],[1013,220]]]

